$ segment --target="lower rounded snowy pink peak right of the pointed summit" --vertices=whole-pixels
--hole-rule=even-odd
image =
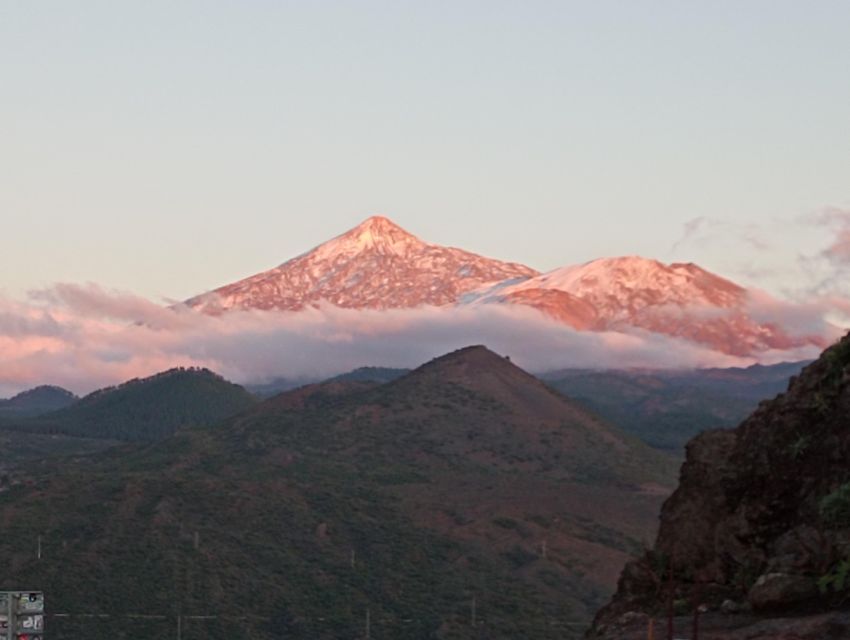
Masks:
[[[553,297],[554,292],[566,297]],[[568,324],[578,329],[640,328],[737,356],[826,346],[820,336],[793,337],[776,322],[753,319],[749,290],[692,263],[604,258],[483,292],[479,301],[494,299],[526,304],[557,319],[569,316]]]

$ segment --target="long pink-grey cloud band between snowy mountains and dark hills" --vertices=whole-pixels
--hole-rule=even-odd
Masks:
[[[175,366],[208,367],[237,382],[330,376],[366,365],[412,367],[470,344],[510,355],[531,371],[753,362],[647,332],[578,332],[521,306],[327,306],[212,317],[95,285],[60,284],[26,301],[0,298],[0,396],[39,384],[86,393]],[[813,355],[801,349],[760,360]]]

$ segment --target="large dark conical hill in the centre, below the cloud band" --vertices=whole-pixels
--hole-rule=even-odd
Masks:
[[[222,616],[184,640],[356,638],[367,615],[394,640],[578,637],[674,467],[469,348],[0,493],[0,589],[112,615],[49,620],[57,640],[171,635],[180,612]]]

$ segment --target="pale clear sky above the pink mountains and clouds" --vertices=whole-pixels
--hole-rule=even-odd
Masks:
[[[183,298],[372,213],[746,280],[850,209],[848,33],[843,0],[0,0],[0,290]],[[673,251],[700,216],[736,230]]]

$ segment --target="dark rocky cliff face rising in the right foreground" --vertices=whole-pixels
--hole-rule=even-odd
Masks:
[[[699,608],[701,638],[850,638],[848,599],[850,335],[737,429],[689,443],[654,548],[589,637],[645,638]]]

